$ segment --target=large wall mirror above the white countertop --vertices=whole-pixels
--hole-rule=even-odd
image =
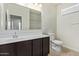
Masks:
[[[1,5],[0,30],[41,30],[41,12],[18,4]]]

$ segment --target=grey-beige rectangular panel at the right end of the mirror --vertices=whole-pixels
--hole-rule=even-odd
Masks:
[[[30,11],[30,29],[41,29],[41,12]]]

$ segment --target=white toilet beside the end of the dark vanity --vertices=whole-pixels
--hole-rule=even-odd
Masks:
[[[48,34],[50,36],[50,48],[56,52],[61,52],[63,42],[56,39],[55,33]]]

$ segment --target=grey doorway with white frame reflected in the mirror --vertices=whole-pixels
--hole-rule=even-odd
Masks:
[[[10,30],[22,30],[22,17],[10,15],[10,20],[7,25]]]

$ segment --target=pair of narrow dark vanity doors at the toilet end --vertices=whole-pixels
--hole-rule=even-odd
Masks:
[[[33,56],[47,56],[49,45],[49,37],[33,40]]]

